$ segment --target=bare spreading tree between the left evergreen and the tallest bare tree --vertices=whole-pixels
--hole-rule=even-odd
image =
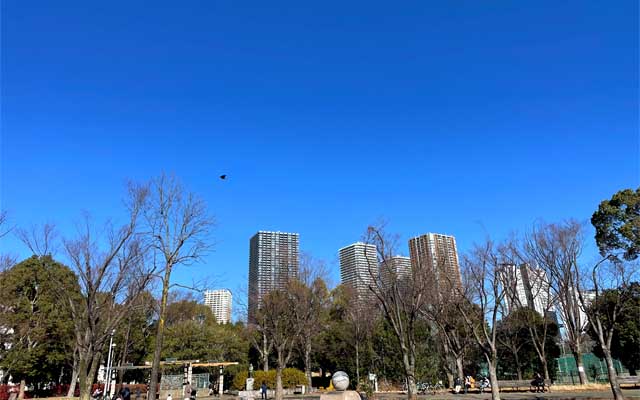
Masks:
[[[68,293],[76,347],[80,398],[89,400],[91,384],[105,350],[105,343],[149,285],[153,269],[145,259],[138,235],[138,217],[147,196],[145,187],[129,187],[126,224],[107,224],[96,230],[86,216],[73,239],[64,239],[71,267],[78,275],[81,298]]]

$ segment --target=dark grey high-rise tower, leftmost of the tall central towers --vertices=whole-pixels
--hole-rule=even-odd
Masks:
[[[249,322],[262,298],[284,289],[300,267],[297,233],[258,231],[249,242]]]

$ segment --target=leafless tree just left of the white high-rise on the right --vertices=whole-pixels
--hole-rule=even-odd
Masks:
[[[498,318],[505,301],[505,264],[496,245],[487,240],[462,259],[463,289],[458,310],[473,334],[489,367],[491,398],[500,400],[498,386]],[[478,323],[478,321],[481,321]]]

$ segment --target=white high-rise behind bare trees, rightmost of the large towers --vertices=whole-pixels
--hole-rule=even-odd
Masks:
[[[502,281],[507,293],[508,310],[528,307],[540,315],[555,312],[547,274],[542,268],[529,264],[506,264]]]

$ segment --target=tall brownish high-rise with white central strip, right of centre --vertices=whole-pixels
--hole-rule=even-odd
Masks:
[[[409,255],[412,268],[432,271],[440,293],[462,287],[455,237],[440,233],[416,236],[409,239]]]

